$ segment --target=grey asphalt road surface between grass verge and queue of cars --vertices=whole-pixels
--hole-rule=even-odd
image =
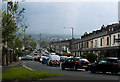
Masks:
[[[90,71],[85,71],[84,69],[78,69],[77,71],[74,71],[72,69],[62,70],[60,67],[50,67],[50,66],[47,66],[46,64],[41,64],[40,62],[37,62],[37,61],[23,61],[23,63],[27,67],[33,70],[64,74],[65,76],[69,76],[68,77],[69,80],[73,78],[79,79],[79,80],[80,79],[82,80],[119,80],[120,78],[120,74],[111,75],[109,72],[106,74],[102,74],[102,73],[91,74]],[[59,77],[59,78],[64,78],[64,77]]]

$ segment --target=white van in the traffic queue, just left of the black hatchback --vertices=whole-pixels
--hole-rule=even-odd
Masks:
[[[58,55],[50,55],[49,60],[47,62],[48,66],[60,66],[60,56]]]

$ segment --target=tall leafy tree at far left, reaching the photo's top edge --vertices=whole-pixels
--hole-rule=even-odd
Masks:
[[[10,1],[7,2],[7,11],[2,12],[2,42],[4,45],[7,43],[7,50],[9,47],[16,51],[16,48],[21,48],[22,46],[17,34],[19,33],[19,23],[22,23],[20,20],[22,20],[24,10],[24,8],[19,9],[18,2]],[[8,56],[7,51],[5,51],[5,54]],[[8,57],[6,58],[8,59]]]

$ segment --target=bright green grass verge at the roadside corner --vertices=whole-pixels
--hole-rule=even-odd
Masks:
[[[37,80],[61,75],[62,74],[28,70],[24,67],[12,67],[2,73],[2,80],[19,80],[19,79]]]

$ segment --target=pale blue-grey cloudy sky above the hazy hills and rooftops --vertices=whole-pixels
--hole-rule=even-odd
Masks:
[[[22,2],[27,33],[81,35],[118,23],[118,2]],[[66,28],[64,28],[66,27]]]

